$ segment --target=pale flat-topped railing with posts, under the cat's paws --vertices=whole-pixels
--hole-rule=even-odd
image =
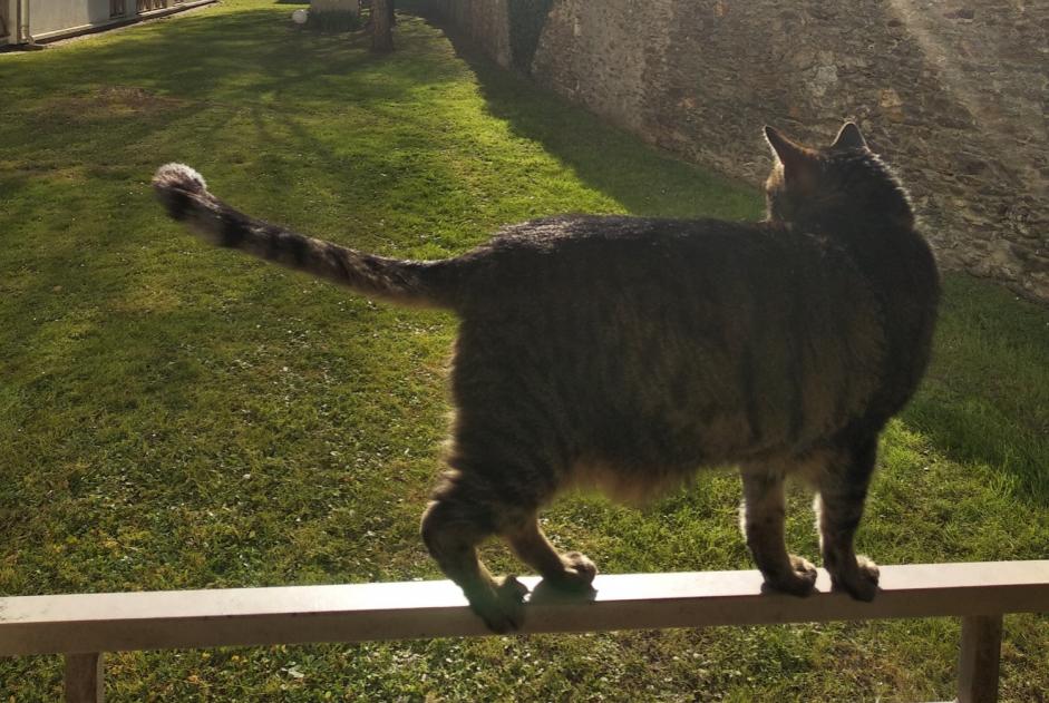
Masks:
[[[586,598],[522,580],[523,633],[961,617],[961,703],[998,699],[1002,615],[1049,612],[1049,560],[884,566],[873,603],[822,569],[808,598],[765,593],[758,572],[599,576]],[[65,654],[77,703],[103,700],[105,652],[487,634],[450,582],[0,598],[0,656]]]

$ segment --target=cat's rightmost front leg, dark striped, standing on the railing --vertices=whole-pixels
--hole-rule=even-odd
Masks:
[[[876,453],[877,436],[865,438],[832,453],[816,479],[814,508],[823,565],[833,587],[858,601],[872,601],[877,593],[877,565],[853,547]]]

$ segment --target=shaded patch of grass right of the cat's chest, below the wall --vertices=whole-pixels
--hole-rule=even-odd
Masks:
[[[903,417],[948,457],[1011,476],[1018,498],[1049,506],[1049,311],[946,275],[932,364]]]

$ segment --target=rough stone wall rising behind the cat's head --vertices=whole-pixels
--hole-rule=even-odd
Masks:
[[[509,66],[508,1],[440,3]],[[1045,0],[556,0],[532,74],[754,184],[761,125],[820,143],[855,119],[944,265],[1049,301]]]

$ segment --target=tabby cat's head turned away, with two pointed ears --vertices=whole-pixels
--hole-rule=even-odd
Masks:
[[[910,199],[854,123],[824,148],[803,146],[771,127],[773,173],[765,183],[768,219],[800,226],[877,224],[911,227]]]

